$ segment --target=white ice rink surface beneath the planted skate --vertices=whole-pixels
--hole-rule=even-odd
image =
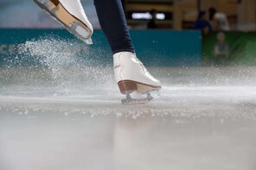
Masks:
[[[48,64],[0,69],[1,170],[256,169],[255,67],[149,67],[124,105],[112,66]]]

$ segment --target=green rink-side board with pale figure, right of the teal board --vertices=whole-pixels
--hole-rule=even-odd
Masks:
[[[216,54],[218,35],[225,35],[227,53]],[[220,38],[220,37],[219,37]],[[221,44],[222,43],[222,44]],[[221,44],[223,51],[225,45]],[[203,66],[256,66],[256,33],[254,32],[212,32],[202,37]]]

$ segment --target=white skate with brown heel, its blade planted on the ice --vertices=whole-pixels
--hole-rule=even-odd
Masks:
[[[126,98],[122,104],[146,103],[153,99],[150,91],[159,91],[160,82],[151,76],[150,72],[138,60],[136,54],[131,52],[119,52],[113,55],[114,73],[118,83],[119,90]],[[131,93],[146,94],[146,98],[131,98]]]

